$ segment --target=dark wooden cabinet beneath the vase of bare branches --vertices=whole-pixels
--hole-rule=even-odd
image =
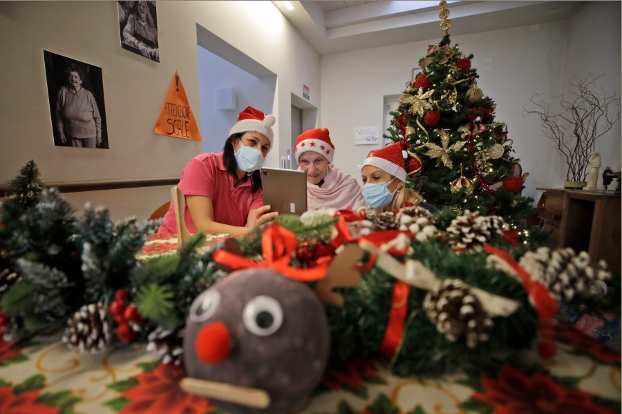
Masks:
[[[545,193],[538,202],[538,217],[551,230],[549,247],[572,247],[590,253],[592,263],[600,259],[607,268],[621,266],[620,195],[610,192],[538,188]]]

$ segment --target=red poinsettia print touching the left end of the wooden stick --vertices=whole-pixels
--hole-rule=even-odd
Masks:
[[[151,373],[136,375],[140,385],[122,393],[130,403],[119,413],[192,414],[213,410],[205,398],[182,391],[179,382],[185,375],[183,368],[175,364],[160,364]]]

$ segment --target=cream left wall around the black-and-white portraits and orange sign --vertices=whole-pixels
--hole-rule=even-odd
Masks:
[[[179,177],[201,143],[152,131],[176,70],[200,117],[197,24],[277,75],[267,162],[278,165],[290,146],[291,94],[306,84],[314,106],[321,97],[319,55],[271,1],[158,1],[160,63],[120,47],[116,1],[1,1],[0,181],[29,159],[44,181]],[[53,145],[43,50],[102,68],[109,150]],[[113,217],[139,218],[170,198],[162,187],[67,195],[76,208],[85,197]]]

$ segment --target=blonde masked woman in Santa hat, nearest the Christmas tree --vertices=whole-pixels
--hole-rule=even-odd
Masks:
[[[415,190],[405,187],[406,175],[402,143],[396,142],[369,152],[361,169],[361,178],[365,201],[376,215],[408,205],[436,210],[431,204],[425,203]]]

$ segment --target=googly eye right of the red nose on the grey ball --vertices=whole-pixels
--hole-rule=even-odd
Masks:
[[[283,324],[283,309],[276,299],[257,296],[244,306],[243,321],[244,326],[254,335],[272,335]]]

